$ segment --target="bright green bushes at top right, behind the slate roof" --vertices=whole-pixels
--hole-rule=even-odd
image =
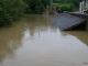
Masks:
[[[63,9],[64,11],[73,11],[79,8],[79,2],[80,0],[54,0],[52,10],[58,7],[58,9]]]

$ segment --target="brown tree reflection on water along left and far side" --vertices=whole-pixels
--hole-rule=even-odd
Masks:
[[[30,40],[40,36],[40,32],[56,31],[56,29],[48,24],[48,15],[26,15],[22,18],[12,26],[0,29],[0,63],[3,62],[8,56],[14,56],[14,51],[22,46],[22,44]]]

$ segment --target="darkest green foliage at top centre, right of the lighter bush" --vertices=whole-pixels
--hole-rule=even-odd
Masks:
[[[29,9],[26,9],[28,13],[43,13],[46,6],[50,4],[50,0],[23,0],[29,4]]]

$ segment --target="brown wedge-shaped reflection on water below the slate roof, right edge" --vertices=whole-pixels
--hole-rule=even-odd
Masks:
[[[84,32],[84,31],[66,31],[63,32],[63,35],[73,35],[75,37],[77,37],[78,40],[80,40],[82,43],[85,43],[88,46],[88,32]]]

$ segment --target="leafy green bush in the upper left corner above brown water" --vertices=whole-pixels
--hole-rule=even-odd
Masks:
[[[11,24],[26,7],[22,0],[0,0],[0,25]]]

